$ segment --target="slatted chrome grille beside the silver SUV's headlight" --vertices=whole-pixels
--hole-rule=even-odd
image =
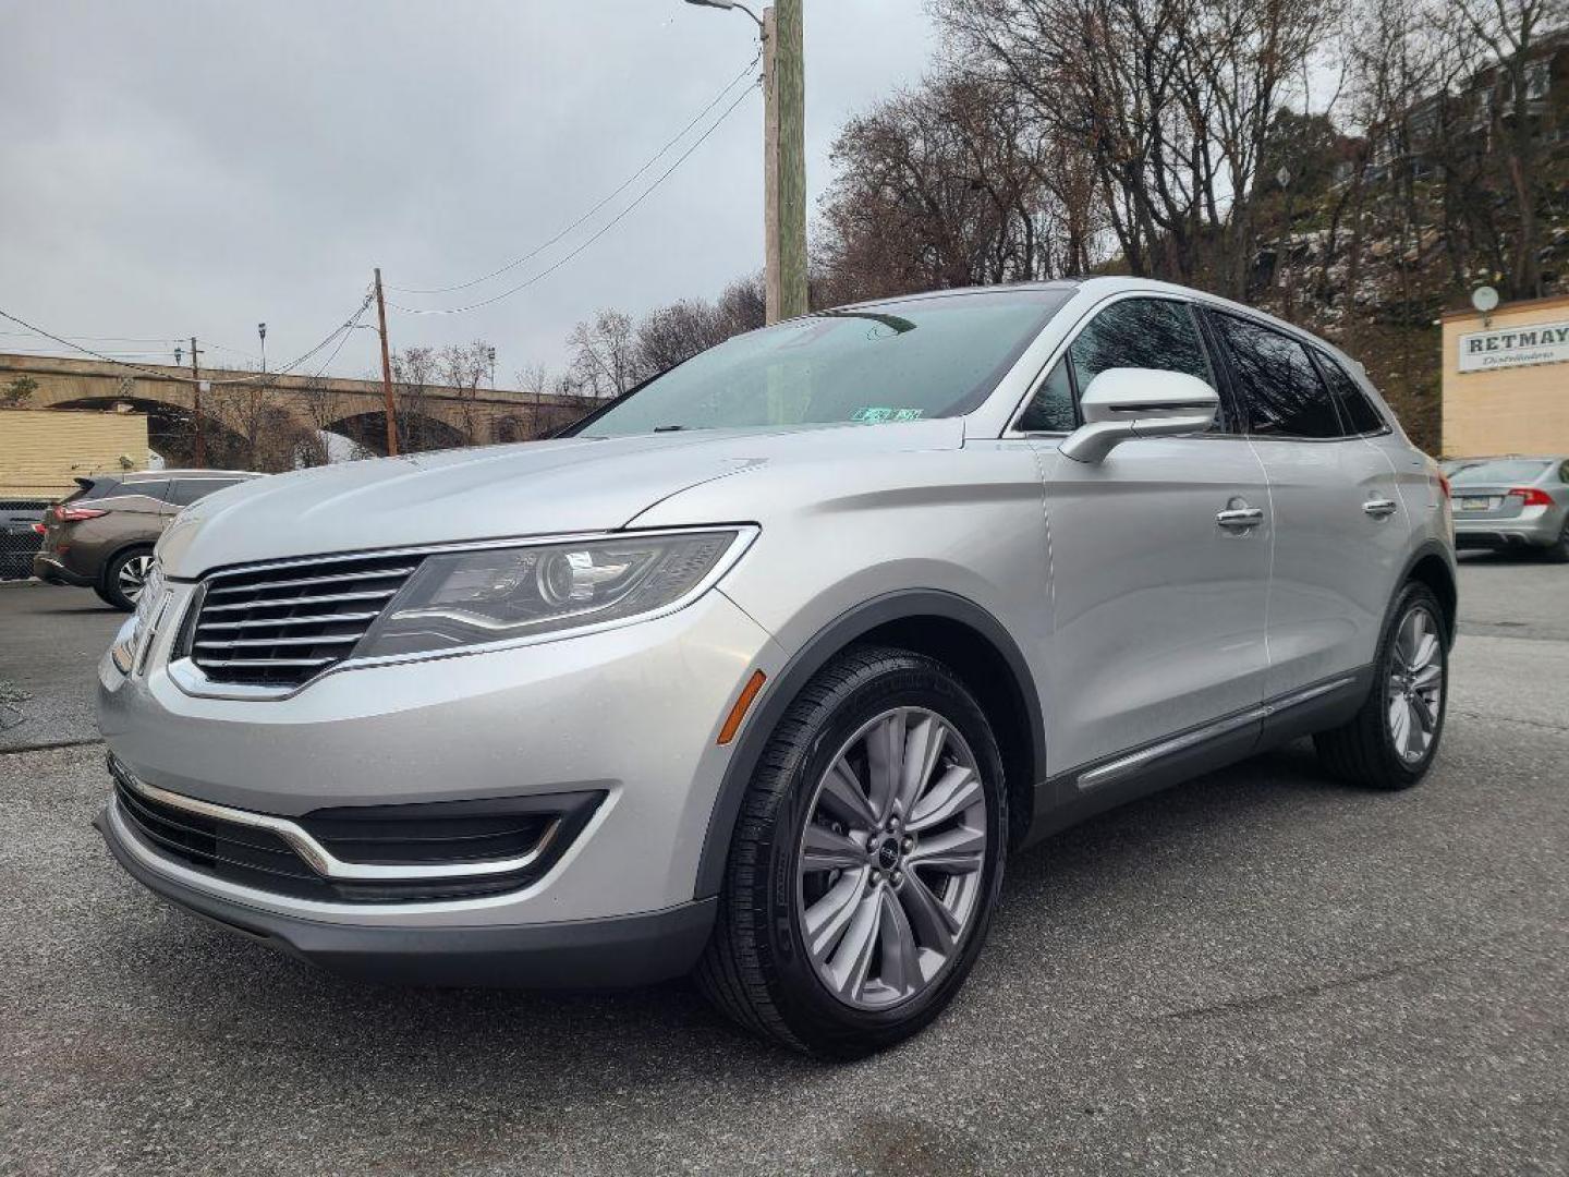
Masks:
[[[215,683],[298,686],[342,662],[417,556],[322,560],[209,578],[190,658]]]

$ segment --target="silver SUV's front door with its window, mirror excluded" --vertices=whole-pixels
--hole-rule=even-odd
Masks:
[[[1183,733],[1246,752],[1268,673],[1272,527],[1257,454],[1222,408],[1200,436],[1130,439],[1098,463],[1062,455],[1078,395],[1109,367],[1218,384],[1189,303],[1120,297],[1079,328],[1018,421],[1045,479],[1048,756],[1084,789],[1136,753],[1175,753],[1147,755]]]

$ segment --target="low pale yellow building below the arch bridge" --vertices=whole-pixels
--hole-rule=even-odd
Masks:
[[[0,496],[52,499],[77,477],[146,468],[141,413],[0,410]]]

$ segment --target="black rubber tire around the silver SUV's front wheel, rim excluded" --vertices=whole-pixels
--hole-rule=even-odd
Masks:
[[[797,855],[817,782],[846,741],[890,708],[904,706],[935,712],[968,745],[985,797],[984,866],[970,920],[946,964],[924,989],[891,1008],[860,1009],[828,990],[806,953]],[[960,680],[923,654],[852,648],[802,689],[763,753],[731,838],[717,924],[697,984],[723,1014],[795,1050],[825,1058],[883,1050],[930,1023],[963,984],[996,907],[1006,838],[1003,760]]]

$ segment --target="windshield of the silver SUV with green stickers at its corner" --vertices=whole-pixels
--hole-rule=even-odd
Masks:
[[[1072,293],[987,290],[792,319],[692,356],[574,432],[957,416],[985,399]]]

